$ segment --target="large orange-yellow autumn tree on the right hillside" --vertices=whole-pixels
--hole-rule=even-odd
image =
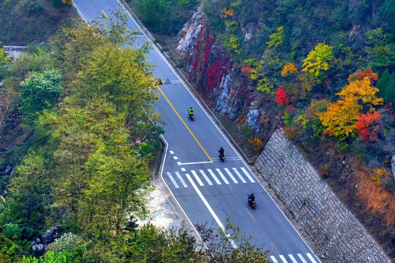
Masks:
[[[374,106],[383,104],[383,99],[376,97],[377,92],[378,88],[372,86],[372,78],[369,75],[345,86],[339,93],[336,93],[340,96],[339,100],[328,103],[327,110],[318,113],[325,127],[324,133],[336,136],[340,140],[352,135],[363,105],[369,107],[369,112],[374,112]]]

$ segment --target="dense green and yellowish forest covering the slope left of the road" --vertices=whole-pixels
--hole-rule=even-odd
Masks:
[[[1,3],[2,13],[15,2]],[[33,12],[24,21],[40,18],[33,2],[19,2]],[[48,2],[33,5],[56,14],[70,4]],[[184,229],[136,224],[148,213],[149,163],[164,132],[150,45],[130,47],[136,32],[120,11],[106,26],[105,17],[88,26],[68,14],[43,19],[53,32],[36,36],[43,45],[12,27],[0,39],[33,44],[12,61],[0,49],[0,261],[269,262],[231,221],[226,232],[195,226],[207,246]]]

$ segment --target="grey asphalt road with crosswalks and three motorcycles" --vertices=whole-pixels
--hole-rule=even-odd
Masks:
[[[74,3],[86,21],[103,12],[110,16],[110,10],[120,7],[117,0]],[[149,41],[130,16],[128,29],[140,31],[137,43]],[[158,86],[160,100],[155,106],[166,122],[161,176],[190,222],[222,227],[229,217],[244,233],[254,235],[252,243],[264,244],[273,262],[320,262],[162,54],[152,47],[148,59],[158,66],[152,72],[154,79],[168,77],[171,81]],[[189,107],[195,110],[194,121],[188,119]],[[220,147],[225,149],[225,162],[218,158]],[[255,193],[256,209],[247,203],[249,193]]]

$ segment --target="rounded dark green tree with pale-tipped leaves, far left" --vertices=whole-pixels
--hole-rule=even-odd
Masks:
[[[20,111],[28,121],[35,120],[43,109],[49,109],[62,94],[62,74],[46,70],[29,75],[21,85]]]

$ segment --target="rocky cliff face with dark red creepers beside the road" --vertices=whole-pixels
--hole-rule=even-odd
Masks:
[[[245,41],[251,39],[247,26]],[[248,124],[254,131],[272,130],[278,122],[272,101],[257,92],[241,66],[229,60],[226,51],[210,35],[205,14],[198,9],[179,33],[177,50],[185,60],[188,79],[201,96],[237,124]],[[271,134],[271,133],[268,133]]]

